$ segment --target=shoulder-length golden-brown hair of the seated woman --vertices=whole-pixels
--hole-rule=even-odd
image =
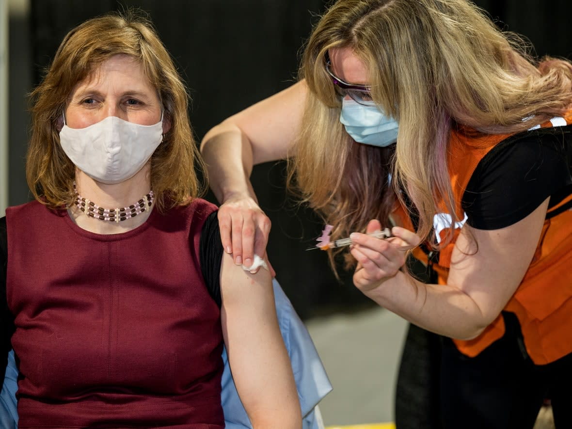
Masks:
[[[102,62],[117,54],[138,61],[157,89],[164,118],[171,127],[151,158],[151,184],[159,210],[186,204],[204,185],[190,128],[189,97],[168,51],[152,23],[127,10],[89,19],[67,33],[41,84],[31,93],[32,135],[26,156],[26,177],[34,197],[50,208],[74,201],[75,166],[59,144],[57,122],[74,86]]]

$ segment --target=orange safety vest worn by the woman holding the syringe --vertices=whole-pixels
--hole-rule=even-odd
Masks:
[[[563,119],[567,125],[572,124],[572,111]],[[563,122],[562,118],[558,120]],[[550,126],[553,126],[550,121],[541,124],[542,128]],[[463,128],[452,130],[448,155],[458,219],[465,216],[461,200],[479,161],[499,142],[513,135],[472,135],[466,131]],[[572,209],[561,210],[571,201],[572,195],[569,195],[547,212],[529,269],[504,308],[517,315],[526,350],[535,364],[554,362],[572,353]],[[558,214],[553,216],[554,213]],[[460,227],[455,229],[454,239],[440,249],[438,261],[432,264],[438,275],[438,284],[447,283],[451,255],[459,231]],[[442,231],[442,238],[445,233]],[[414,256],[427,262],[427,255],[419,248],[415,249]],[[478,337],[454,342],[459,351],[474,357],[504,333],[505,323],[502,315],[499,315]]]

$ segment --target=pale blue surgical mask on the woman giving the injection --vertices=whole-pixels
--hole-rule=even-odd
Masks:
[[[375,104],[363,105],[342,100],[340,122],[353,140],[384,148],[397,140],[398,123],[386,116]]]

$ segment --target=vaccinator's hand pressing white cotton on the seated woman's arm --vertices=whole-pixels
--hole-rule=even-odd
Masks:
[[[224,251],[235,264],[251,267],[254,255],[265,259],[271,221],[252,197],[228,198],[219,208],[219,227]]]

